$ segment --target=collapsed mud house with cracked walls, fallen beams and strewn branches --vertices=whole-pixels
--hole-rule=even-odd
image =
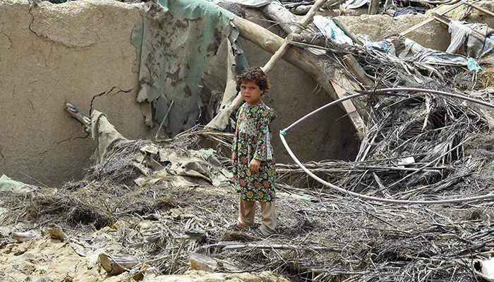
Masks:
[[[235,43],[231,22],[242,35],[242,23],[243,28],[252,27],[251,21],[272,25],[260,10],[282,23],[300,19],[289,18],[292,16],[279,4],[245,8],[249,23],[214,8],[209,11],[216,17],[214,26],[221,25],[224,30],[215,30],[210,37],[204,35],[205,41],[200,37],[191,40],[180,37],[194,32],[184,32],[190,26],[184,23],[200,23],[199,28],[208,30],[210,23],[201,18],[201,11],[212,4],[175,6],[180,3],[188,2],[1,2],[0,63],[7,66],[1,71],[6,93],[1,95],[0,104],[6,113],[0,121],[2,173],[34,184],[2,178],[2,187],[10,189],[1,192],[2,278],[123,281],[143,278],[142,274],[147,281],[174,281],[183,277],[165,274],[183,274],[192,268],[216,274],[189,272],[191,280],[282,281],[279,274],[313,281],[473,279],[474,259],[486,259],[492,250],[490,200],[428,207],[363,202],[316,184],[298,166],[279,164],[279,234],[251,241],[243,233],[226,230],[224,225],[234,221],[236,214],[236,195],[227,181],[227,158],[199,149],[196,143],[210,137],[215,146],[219,145],[217,152],[222,151],[221,146],[227,151],[231,135],[197,128],[171,139],[163,135],[167,135],[165,131],[175,135],[191,127],[195,119],[208,123],[218,116],[219,105],[234,98],[221,101],[227,80],[234,73],[231,62],[235,61],[235,68],[241,66],[241,50],[251,66],[270,61],[271,54],[242,36],[237,38],[241,49],[226,48]],[[491,4],[484,1],[478,5],[492,11]],[[293,6],[294,12],[303,8],[295,3],[286,6]],[[276,18],[276,9],[282,11],[284,20]],[[239,11],[241,15],[243,9]],[[230,18],[222,22],[218,13]],[[484,15],[473,9],[467,17],[490,25],[492,19]],[[370,35],[377,44],[347,46],[331,36],[315,36],[311,28],[304,29],[308,34],[302,32],[301,39],[291,35],[289,43],[293,46],[284,59],[307,73],[312,71],[313,78],[286,62],[272,69],[274,88],[267,104],[272,103],[278,112],[275,133],[329,102],[331,95],[337,99],[338,94],[355,90],[426,87],[490,102],[492,79],[482,77],[482,72],[467,71],[466,62],[443,61],[445,65],[441,65],[418,61],[417,57],[399,59],[388,54],[389,44],[383,48],[378,42],[390,30],[404,32],[428,16],[338,18],[350,32]],[[163,25],[167,20],[174,24]],[[267,40],[257,43],[275,52],[294,26],[271,26],[281,37],[266,33],[261,39]],[[259,38],[249,37],[255,34],[247,32],[243,37],[256,42]],[[449,36],[445,23],[438,20],[407,35],[438,51],[450,45]],[[175,40],[167,42],[167,37]],[[367,37],[356,38],[361,41]],[[408,43],[401,37],[390,37],[389,42],[396,55],[403,53]],[[209,58],[202,71],[192,64],[197,63],[197,57],[187,53],[190,45],[205,50],[202,56]],[[174,47],[176,54],[191,58],[185,63],[164,59],[156,51],[163,46]],[[231,54],[207,53],[224,49]],[[344,59],[351,59],[348,55],[354,57],[356,68],[347,65]],[[301,59],[293,59],[297,56]],[[303,58],[313,65],[301,66]],[[488,58],[478,60],[486,73],[490,71]],[[171,67],[163,68],[163,61]],[[365,75],[359,76],[359,66]],[[137,68],[139,73],[133,73]],[[186,78],[189,71],[195,73],[192,82]],[[321,79],[326,77],[335,80]],[[205,79],[203,88],[193,84],[201,81],[199,78]],[[170,85],[178,90],[163,94]],[[204,90],[209,93],[207,97],[198,94]],[[181,95],[195,100],[181,101]],[[201,108],[198,98],[204,112],[195,108]],[[294,151],[304,153],[303,161],[320,161],[307,165],[318,176],[352,192],[403,201],[457,199],[490,192],[490,109],[416,91],[385,97],[370,94],[353,101],[364,126],[359,149],[353,129],[359,128],[358,122],[337,107],[323,114],[326,122],[306,122],[299,133],[287,135],[291,147],[299,142],[298,152]],[[78,121],[61,109],[66,102],[79,106],[83,114],[92,113],[88,123],[92,129],[88,131],[97,142],[93,143]],[[159,104],[164,105],[160,108]],[[184,105],[183,109],[191,111],[179,111]],[[348,110],[348,106],[343,108]],[[13,111],[16,107],[23,111]],[[158,134],[158,126],[147,130],[146,123],[159,125],[162,121],[165,130]],[[143,136],[165,141],[157,146],[140,140]],[[328,144],[327,140],[332,141]],[[281,145],[275,149],[281,154],[280,163],[290,162]],[[93,151],[97,152],[96,164],[90,166]],[[52,183],[79,178],[83,167],[88,168],[83,180],[49,188]],[[60,230],[66,235],[54,233]],[[53,234],[53,239],[46,233]],[[13,238],[20,242],[33,239],[17,244]],[[99,268],[102,264],[104,269]],[[257,276],[237,273],[264,270],[271,272]]]

